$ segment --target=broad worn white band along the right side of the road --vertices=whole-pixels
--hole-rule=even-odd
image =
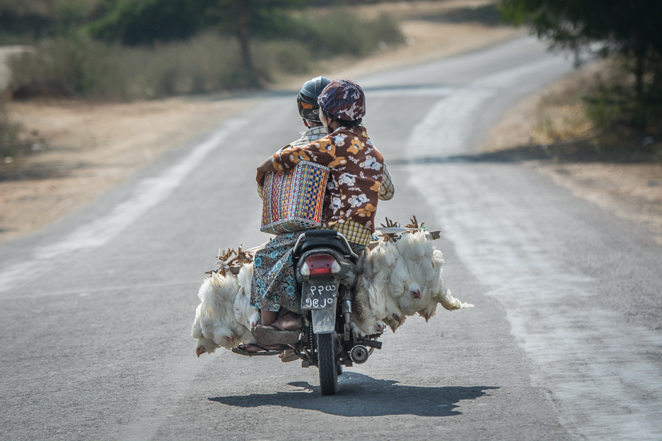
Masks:
[[[439,101],[414,128],[410,159],[463,152],[473,112],[496,89],[544,68],[484,78]],[[662,336],[622,324],[614,312],[570,307],[568,299],[594,294],[591,279],[557,259],[522,201],[490,188],[498,175],[490,176],[489,166],[419,165],[410,176],[436,207],[458,257],[503,303],[513,335],[535,364],[532,383],[551,391],[568,430],[591,439],[660,439],[662,372],[650,354],[659,354]]]

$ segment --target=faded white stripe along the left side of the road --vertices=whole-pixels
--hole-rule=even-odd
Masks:
[[[158,176],[138,182],[131,196],[95,221],[83,225],[67,238],[35,250],[30,260],[9,265],[0,272],[0,292],[14,289],[56,265],[56,260],[82,250],[98,248],[135,223],[165,200],[182,181],[218,148],[229,134],[246,127],[248,119],[230,119],[209,139],[194,147],[182,161]]]

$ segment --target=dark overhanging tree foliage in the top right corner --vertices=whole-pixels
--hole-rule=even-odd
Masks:
[[[662,106],[662,1],[501,0],[505,21],[527,24],[552,47],[621,55],[635,77],[633,122],[645,126]],[[579,58],[578,58],[579,59]],[[657,109],[657,110],[656,110]]]

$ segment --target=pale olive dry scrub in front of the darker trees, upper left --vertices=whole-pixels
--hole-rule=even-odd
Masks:
[[[380,44],[396,44],[401,33],[386,15],[362,18],[329,11],[318,23],[293,18],[282,38],[253,38],[255,75],[243,67],[236,38],[215,32],[185,41],[122,46],[68,33],[36,43],[10,58],[14,97],[85,97],[135,100],[191,93],[254,89],[283,74],[308,73],[322,57],[362,57]]]

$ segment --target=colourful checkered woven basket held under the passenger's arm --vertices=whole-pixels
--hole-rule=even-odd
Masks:
[[[281,234],[322,225],[328,177],[328,167],[310,161],[285,173],[266,174],[260,230]]]

